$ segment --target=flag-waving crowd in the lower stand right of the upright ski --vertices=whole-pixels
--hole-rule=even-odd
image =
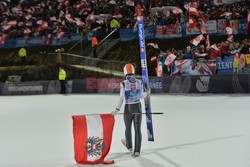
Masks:
[[[171,74],[171,66],[175,60],[191,59],[193,61],[193,64],[195,65],[199,61],[215,61],[218,57],[220,57],[223,61],[225,58],[228,58],[230,56],[235,57],[236,54],[250,54],[250,39],[245,39],[242,42],[237,41],[232,43],[225,41],[214,44],[210,47],[206,47],[204,43],[201,43],[195,47],[189,45],[186,47],[186,49],[183,50],[175,50],[175,48],[172,48],[163,51],[158,47],[157,44],[151,43],[149,45],[153,46],[152,48],[158,50],[156,52],[158,53],[157,56],[155,56],[155,52],[152,52],[153,55],[151,55],[151,63],[155,64],[155,66],[158,66],[158,63],[160,62],[162,66],[161,75]],[[166,65],[166,59],[170,54],[173,54],[176,57],[173,59],[171,64]],[[159,75],[157,74],[157,71],[156,75]]]

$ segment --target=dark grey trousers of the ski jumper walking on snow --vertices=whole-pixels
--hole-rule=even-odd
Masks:
[[[139,113],[139,114],[133,114],[133,113]],[[125,123],[125,138],[126,138],[126,147],[128,149],[133,148],[132,144],[132,132],[131,127],[132,123],[134,124],[134,130],[135,130],[135,147],[134,152],[140,152],[141,151],[141,119],[142,115],[141,113],[141,103],[136,104],[126,104],[125,110],[124,110],[124,123]]]

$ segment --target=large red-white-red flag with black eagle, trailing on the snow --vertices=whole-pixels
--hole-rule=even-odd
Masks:
[[[80,164],[113,164],[104,161],[112,141],[112,114],[72,116],[75,160]]]

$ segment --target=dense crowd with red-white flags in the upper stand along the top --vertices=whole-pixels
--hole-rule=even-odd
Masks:
[[[230,5],[211,5],[209,0],[191,0],[207,19],[246,18],[250,0]],[[185,5],[190,0],[6,0],[0,2],[0,36],[4,38],[81,33],[99,27],[110,31],[116,19],[121,28],[134,28],[137,15],[146,25],[187,21]],[[163,6],[177,10],[153,10]],[[180,9],[180,10],[179,10]]]

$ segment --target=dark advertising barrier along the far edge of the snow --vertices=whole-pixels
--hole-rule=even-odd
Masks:
[[[118,93],[123,78],[88,77],[67,81],[68,93]],[[150,77],[152,94],[250,93],[249,74]],[[0,83],[0,95],[59,94],[59,81]]]

